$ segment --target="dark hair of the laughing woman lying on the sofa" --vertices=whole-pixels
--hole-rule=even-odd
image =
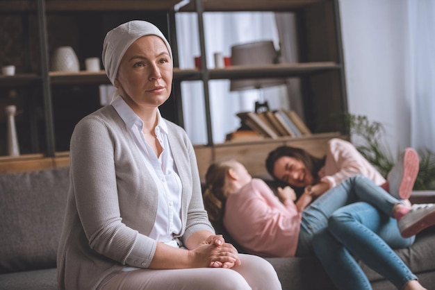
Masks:
[[[266,169],[268,169],[268,173],[274,179],[277,179],[277,177],[273,174],[274,164],[283,156],[293,157],[296,160],[304,163],[306,169],[308,169],[313,175],[314,180],[318,179],[318,172],[322,166],[325,165],[325,157],[322,159],[314,157],[313,155],[304,151],[302,148],[279,146],[278,148],[274,149],[274,151],[271,151],[266,158]]]

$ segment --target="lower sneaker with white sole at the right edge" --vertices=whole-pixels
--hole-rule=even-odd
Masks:
[[[425,228],[435,225],[435,204],[412,205],[411,210],[397,221],[402,237],[412,237]]]

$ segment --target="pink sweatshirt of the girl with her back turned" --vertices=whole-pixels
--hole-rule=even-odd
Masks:
[[[247,252],[261,257],[294,257],[301,214],[292,201],[284,205],[261,179],[227,198],[224,226]]]

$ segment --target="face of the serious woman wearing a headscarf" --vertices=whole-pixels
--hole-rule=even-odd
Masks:
[[[154,110],[170,96],[172,70],[165,42],[156,35],[143,36],[124,53],[115,86],[133,110]]]

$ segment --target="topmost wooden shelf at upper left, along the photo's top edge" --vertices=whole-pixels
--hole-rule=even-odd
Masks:
[[[155,11],[173,10],[180,0],[47,0],[47,12],[92,12],[92,11]],[[3,0],[0,1],[1,12],[34,12],[36,1]]]

